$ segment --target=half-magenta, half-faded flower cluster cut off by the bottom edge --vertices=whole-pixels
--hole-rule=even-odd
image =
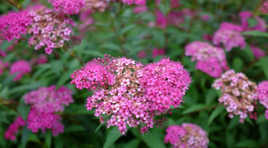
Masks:
[[[166,133],[164,142],[169,142],[173,148],[207,148],[209,144],[207,133],[193,123],[171,125]]]

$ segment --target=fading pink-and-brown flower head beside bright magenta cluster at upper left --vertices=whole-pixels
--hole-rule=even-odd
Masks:
[[[32,35],[28,42],[35,50],[45,47],[45,52],[51,54],[53,48],[63,47],[70,40],[73,33],[70,26],[75,26],[71,19],[47,8],[30,11],[29,15],[33,21],[27,31]]]

